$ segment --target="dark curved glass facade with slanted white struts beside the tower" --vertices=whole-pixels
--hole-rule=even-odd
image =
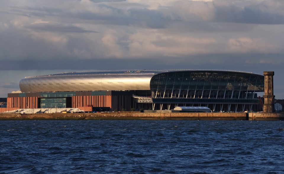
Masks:
[[[231,104],[259,103],[256,92],[264,91],[264,76],[230,71],[178,71],[154,75],[150,88],[153,102],[157,104],[207,107],[208,104],[229,104],[226,107],[230,110]]]

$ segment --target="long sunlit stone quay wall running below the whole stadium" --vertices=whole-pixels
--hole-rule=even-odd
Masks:
[[[81,120],[81,119],[186,119],[186,120],[246,120],[246,113],[53,113],[0,114],[0,120]]]

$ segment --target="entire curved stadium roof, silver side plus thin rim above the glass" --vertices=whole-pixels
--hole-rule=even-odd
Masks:
[[[150,90],[150,81],[155,74],[178,71],[226,71],[254,74],[244,71],[197,69],[84,71],[28,76],[22,79],[19,85],[22,92]]]

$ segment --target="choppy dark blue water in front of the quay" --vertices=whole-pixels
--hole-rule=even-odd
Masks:
[[[0,121],[0,173],[284,173],[283,133],[283,121]]]

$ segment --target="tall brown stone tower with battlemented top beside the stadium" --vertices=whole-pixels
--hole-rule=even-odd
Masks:
[[[270,113],[274,112],[274,95],[273,95],[273,76],[274,71],[264,71],[264,105],[263,112]]]

